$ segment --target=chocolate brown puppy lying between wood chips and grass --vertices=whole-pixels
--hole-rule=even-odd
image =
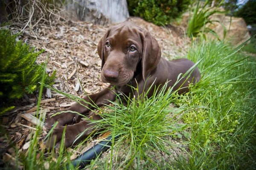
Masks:
[[[135,98],[142,93],[145,81],[145,91],[149,89],[154,82],[155,86],[163,85],[168,80],[168,86],[173,86],[177,81],[177,76],[180,73],[186,73],[195,63],[188,59],[177,59],[173,61],[166,61],[161,58],[161,49],[157,40],[152,37],[148,31],[141,29],[139,26],[131,22],[121,23],[116,26],[109,27],[108,31],[102,37],[98,44],[98,54],[102,59],[102,81],[116,85],[114,89],[104,89],[99,93],[89,95],[90,99],[97,105],[109,104],[109,101],[116,99],[116,93],[122,92],[129,96],[129,93],[134,94]],[[175,87],[176,90],[183,84],[183,88],[179,89],[179,93],[188,92],[188,84],[196,83],[201,78],[200,72],[196,67],[188,80],[183,84],[180,81]],[[139,86],[139,94],[136,91],[132,92],[130,86]],[[130,86],[127,86],[130,85]],[[154,88],[150,89],[148,96],[153,94]],[[85,96],[85,101],[91,102]],[[89,104],[87,107],[92,108]],[[85,114],[89,111],[86,107],[76,103],[66,110],[76,111]],[[60,115],[47,118],[45,126],[51,129],[52,125],[58,121],[58,127],[53,131],[56,137],[56,146],[61,140],[64,130],[64,125],[71,124],[79,118],[78,114],[67,112]],[[94,120],[99,120],[99,115],[91,116]],[[65,146],[70,147],[76,136],[84,130],[92,127],[90,121],[81,121],[78,124],[69,125],[66,128]],[[83,137],[92,133],[93,129],[87,130]],[[52,147],[51,142],[51,147]]]

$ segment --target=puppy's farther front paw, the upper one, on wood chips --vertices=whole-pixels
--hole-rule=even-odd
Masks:
[[[50,130],[53,127],[53,124],[58,121],[57,126],[64,126],[66,124],[71,124],[74,121],[77,121],[79,115],[76,113],[61,113],[52,117],[48,117],[45,121],[44,126],[47,130]]]

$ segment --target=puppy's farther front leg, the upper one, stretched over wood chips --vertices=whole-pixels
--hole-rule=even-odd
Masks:
[[[73,104],[73,106],[69,107],[68,109],[64,109],[64,111],[70,110],[70,111],[79,112],[81,114],[85,114],[86,112],[89,111],[89,109],[93,109],[93,106],[91,105],[92,101],[98,107],[101,107],[103,104],[110,104],[109,101],[114,101],[116,98],[116,94],[110,89],[111,87],[112,86],[109,86],[108,88],[98,93],[89,95],[89,98],[85,96],[83,99],[90,104],[87,104],[84,102],[81,102],[81,103],[86,107],[82,106],[79,103],[76,103],[76,104]],[[50,130],[56,121],[58,121],[57,126],[64,126],[66,124],[71,124],[73,121],[78,120],[78,118],[80,118],[80,116],[72,112],[58,114],[58,115],[47,118],[45,121],[45,127],[48,130]]]

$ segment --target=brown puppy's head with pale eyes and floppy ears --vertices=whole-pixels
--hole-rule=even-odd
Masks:
[[[143,79],[157,66],[161,49],[147,31],[131,22],[109,27],[98,44],[102,59],[102,81],[117,86],[127,84],[141,61]]]

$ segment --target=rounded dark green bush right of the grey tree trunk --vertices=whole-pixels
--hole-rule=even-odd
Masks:
[[[191,0],[127,0],[131,15],[156,25],[168,24],[188,9]]]

